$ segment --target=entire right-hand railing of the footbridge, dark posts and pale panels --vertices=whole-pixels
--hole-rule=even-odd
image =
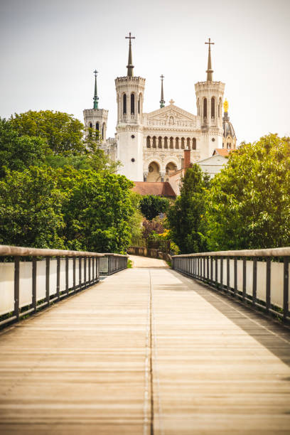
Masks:
[[[290,248],[175,255],[172,267],[289,320]]]

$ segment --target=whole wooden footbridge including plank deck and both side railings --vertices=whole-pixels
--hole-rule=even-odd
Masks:
[[[290,433],[290,249],[173,269],[17,249],[0,247],[1,434]]]

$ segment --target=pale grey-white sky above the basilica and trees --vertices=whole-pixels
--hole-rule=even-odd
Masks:
[[[210,37],[213,80],[225,82],[238,143],[290,136],[289,19],[289,0],[1,0],[0,117],[51,109],[83,121],[97,68],[99,107],[109,109],[114,136],[114,79],[127,75],[131,31],[144,112],[159,108],[163,74],[166,104],[172,98],[196,114]]]

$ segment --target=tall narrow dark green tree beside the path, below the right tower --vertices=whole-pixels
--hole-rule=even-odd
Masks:
[[[193,164],[182,183],[181,195],[168,210],[171,238],[182,254],[205,252],[208,176],[203,176],[200,166]]]

